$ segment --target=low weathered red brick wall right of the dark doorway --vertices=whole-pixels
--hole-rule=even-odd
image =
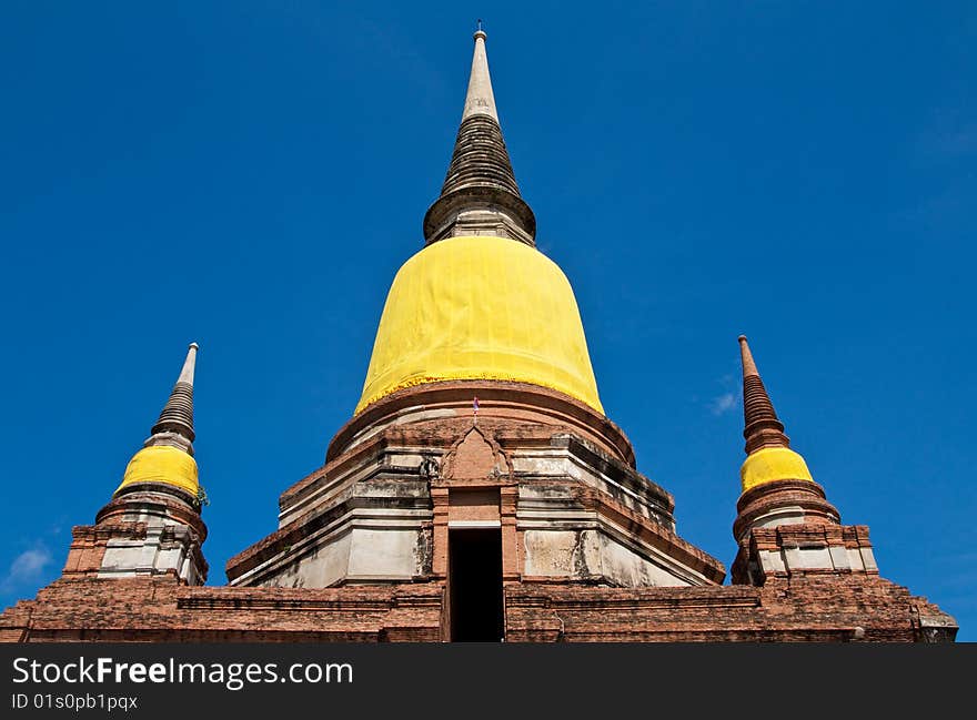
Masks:
[[[935,608],[878,577],[775,580],[762,588],[506,588],[511,641],[899,641]]]

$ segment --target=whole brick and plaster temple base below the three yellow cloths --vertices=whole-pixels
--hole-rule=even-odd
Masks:
[[[0,616],[0,640],[445,641],[451,538],[469,528],[498,534],[506,641],[937,641],[956,632],[938,608],[878,577],[868,529],[822,511],[813,484],[744,495],[735,585],[724,586],[722,564],[675,534],[672,496],[634,469],[620,428],[560,393],[518,384],[435,384],[354,418],[326,465],[282,494],[280,529],[229,561],[230,587],[194,586],[177,569],[107,566],[140,547],[164,557],[182,537],[205,534],[170,508],[180,531],[158,531],[150,546],[145,524],[120,511],[131,497],[75,528],[61,579]],[[777,497],[814,510],[752,527],[764,517],[756,508]]]

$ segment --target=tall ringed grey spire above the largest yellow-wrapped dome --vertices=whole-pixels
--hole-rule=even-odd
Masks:
[[[441,197],[424,216],[429,245],[462,235],[492,235],[535,244],[536,219],[520,195],[498,124],[485,39],[480,21],[451,164]]]

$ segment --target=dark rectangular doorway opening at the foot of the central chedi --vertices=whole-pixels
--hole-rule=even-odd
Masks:
[[[452,641],[501,641],[502,531],[450,530],[447,552]]]

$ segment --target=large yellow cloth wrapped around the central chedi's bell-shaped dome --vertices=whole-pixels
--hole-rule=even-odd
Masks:
[[[514,240],[451,237],[397,272],[356,413],[395,391],[452,379],[542,385],[603,414],[573,288]]]

